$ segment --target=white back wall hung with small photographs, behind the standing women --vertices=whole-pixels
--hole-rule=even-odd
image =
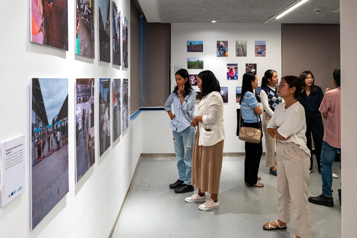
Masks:
[[[203,40],[203,52],[187,52],[187,41]],[[216,56],[217,40],[228,40],[228,57]],[[247,56],[236,57],[236,40],[247,41]],[[256,40],[266,41],[266,57],[254,56],[254,44]],[[224,106],[225,146],[223,152],[244,152],[244,142],[236,136],[237,113],[240,107],[236,103],[236,86],[242,86],[242,77],[245,73],[245,64],[256,63],[259,86],[264,72],[268,69],[276,70],[281,77],[281,25],[280,24],[171,24],[171,91],[175,86],[175,66],[183,66],[187,69],[188,57],[203,57],[203,70],[211,70],[220,81],[222,87],[228,87],[228,103]],[[227,80],[226,65],[238,64],[238,80]],[[198,74],[202,70],[188,69],[189,74]],[[199,91],[197,86],[193,86]],[[197,115],[197,105],[195,115]],[[152,114],[151,114],[152,113]],[[146,115],[146,114],[145,114]],[[156,116],[154,116],[156,115]],[[164,116],[164,118],[162,118]],[[148,126],[155,126],[154,137],[161,138],[157,141],[143,143],[143,153],[174,153],[172,145],[172,130],[169,128],[170,118],[166,112],[150,112],[154,121],[148,122]],[[167,120],[165,120],[167,119]],[[146,119],[145,119],[146,120]],[[150,120],[149,118],[147,119]],[[143,123],[145,123],[143,121]],[[146,128],[143,124],[143,128]],[[169,133],[167,136],[165,133]],[[151,131],[150,131],[151,133]],[[156,133],[160,133],[156,135]],[[149,132],[143,132],[143,138],[149,136]],[[162,146],[164,143],[165,146]],[[263,151],[265,141],[263,139]]]

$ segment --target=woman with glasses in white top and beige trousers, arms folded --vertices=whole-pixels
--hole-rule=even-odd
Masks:
[[[307,201],[309,186],[310,150],[306,146],[305,110],[297,101],[302,82],[297,76],[282,77],[278,95],[284,102],[276,106],[268,123],[267,133],[276,143],[278,219],[263,225],[266,231],[286,229],[293,209],[297,235],[311,238],[310,207]]]

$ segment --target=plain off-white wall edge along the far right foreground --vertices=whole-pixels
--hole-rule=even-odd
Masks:
[[[357,39],[357,1],[340,0],[341,6],[341,181],[342,181],[342,237],[356,237],[356,102],[355,89],[357,57],[351,45]],[[353,96],[352,96],[353,95]],[[352,96],[352,97],[351,97]],[[352,120],[351,120],[352,118]],[[337,199],[337,191],[333,192]]]

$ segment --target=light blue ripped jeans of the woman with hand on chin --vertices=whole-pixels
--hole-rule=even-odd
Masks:
[[[192,150],[195,140],[195,127],[189,126],[181,132],[172,131],[178,176],[183,183],[191,185]]]

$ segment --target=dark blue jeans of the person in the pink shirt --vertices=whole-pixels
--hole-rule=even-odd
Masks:
[[[332,163],[335,161],[335,156],[340,148],[330,146],[325,141],[322,142],[321,151],[321,178],[322,178],[322,193],[325,197],[332,197]],[[340,150],[341,151],[341,150]]]

